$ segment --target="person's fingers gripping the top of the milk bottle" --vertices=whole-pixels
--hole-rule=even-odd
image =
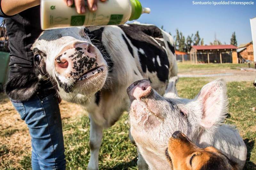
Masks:
[[[107,0],[100,0],[102,2]],[[71,6],[73,3],[76,5],[76,11],[79,14],[82,14],[85,12],[85,1],[84,0],[64,0],[66,5]],[[97,10],[97,2],[98,0],[87,0],[87,5],[90,11],[96,11]]]

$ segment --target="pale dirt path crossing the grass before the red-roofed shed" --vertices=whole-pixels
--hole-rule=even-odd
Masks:
[[[254,81],[256,71],[244,69],[214,69],[214,70],[182,70],[178,73],[180,77],[205,77],[212,81],[214,79],[223,78],[226,82],[232,81]]]

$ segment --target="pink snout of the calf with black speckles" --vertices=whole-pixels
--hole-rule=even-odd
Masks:
[[[55,58],[56,71],[62,76],[68,76],[72,72],[77,72],[74,75],[78,76],[90,70],[91,68],[84,66],[87,62],[88,65],[93,65],[93,62],[96,61],[97,54],[94,48],[94,46],[87,42],[75,43],[64,48],[60,55]]]

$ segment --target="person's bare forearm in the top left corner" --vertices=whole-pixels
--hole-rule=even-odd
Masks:
[[[0,0],[0,3],[2,13],[12,16],[28,8],[40,5],[40,0]]]

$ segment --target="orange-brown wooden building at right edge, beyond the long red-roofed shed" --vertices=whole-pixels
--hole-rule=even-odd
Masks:
[[[237,47],[237,55],[239,58],[239,63],[243,63],[244,61],[253,61],[253,46],[252,42],[247,44],[241,44]]]

